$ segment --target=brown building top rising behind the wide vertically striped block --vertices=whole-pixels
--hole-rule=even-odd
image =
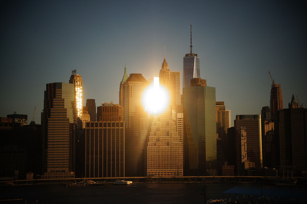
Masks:
[[[113,101],[102,103],[97,107],[97,121],[124,121],[124,107]]]

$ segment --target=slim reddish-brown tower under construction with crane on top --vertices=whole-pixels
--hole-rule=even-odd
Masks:
[[[280,84],[275,84],[273,81],[270,95],[271,120],[274,120],[276,112],[283,108],[284,104],[282,100],[282,87]]]

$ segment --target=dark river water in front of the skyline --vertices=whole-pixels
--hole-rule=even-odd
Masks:
[[[234,186],[252,183],[149,183],[111,186],[66,187],[61,184],[0,186],[1,199],[38,199],[74,204],[98,203],[204,203],[206,199],[222,198],[222,192]],[[226,195],[225,195],[226,196]]]

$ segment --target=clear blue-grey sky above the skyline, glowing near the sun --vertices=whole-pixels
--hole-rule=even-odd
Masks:
[[[269,106],[271,79],[307,108],[306,1],[1,1],[0,117],[27,114],[40,124],[47,83],[73,69],[88,98],[118,103],[128,75],[158,76],[164,59],[180,71],[190,23],[200,76],[236,114]]]

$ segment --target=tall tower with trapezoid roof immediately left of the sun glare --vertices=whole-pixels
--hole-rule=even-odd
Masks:
[[[125,120],[126,176],[145,175],[145,144],[148,134],[148,114],[142,107],[142,94],[149,82],[142,74],[133,73],[122,84]]]

